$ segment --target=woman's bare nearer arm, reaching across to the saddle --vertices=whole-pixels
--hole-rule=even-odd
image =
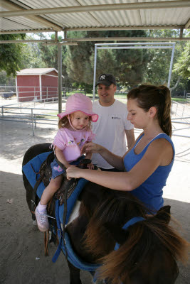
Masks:
[[[165,139],[159,140],[153,141],[150,144],[143,158],[127,173],[81,170],[70,166],[67,169],[68,178],[85,178],[112,190],[134,190],[147,180],[159,165],[162,165],[163,160],[166,158],[171,158],[172,160],[171,151],[168,148],[168,144],[166,144],[167,141]]]

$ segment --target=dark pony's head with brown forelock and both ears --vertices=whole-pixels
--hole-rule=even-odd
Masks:
[[[187,260],[189,244],[169,226],[170,207],[128,227],[127,231],[112,222],[105,223],[115,242],[120,244],[101,259],[97,275],[108,283],[170,283],[178,275],[176,260]]]

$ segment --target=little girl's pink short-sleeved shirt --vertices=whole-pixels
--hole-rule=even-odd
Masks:
[[[53,147],[57,146],[63,151],[63,155],[68,162],[77,160],[81,156],[81,148],[86,142],[90,142],[95,138],[95,134],[90,130],[69,130],[61,128],[58,130]]]

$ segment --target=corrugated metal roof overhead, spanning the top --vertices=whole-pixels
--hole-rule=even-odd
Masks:
[[[181,1],[181,8],[175,8],[175,2],[178,0],[160,0],[159,3],[172,4],[174,8],[166,9],[144,9],[143,4],[154,4],[156,0],[12,0],[0,1],[1,11],[27,11],[28,9],[52,9],[63,7],[85,7],[88,11],[83,12],[64,12],[63,13],[40,13],[39,16],[4,16],[0,18],[1,31],[21,31],[21,30],[41,30],[43,28],[52,28],[60,31],[64,28],[109,28],[109,27],[153,27],[153,26],[182,26],[190,27],[190,1]],[[186,6],[182,7],[182,2]],[[90,11],[91,5],[112,5],[112,4],[140,4],[142,8],[138,9],[119,9],[110,10],[107,6],[105,11]],[[25,9],[25,10],[23,10]],[[51,12],[51,11],[50,11]],[[23,12],[24,13],[24,12]],[[0,12],[1,14],[1,12]],[[2,14],[1,14],[2,15]]]

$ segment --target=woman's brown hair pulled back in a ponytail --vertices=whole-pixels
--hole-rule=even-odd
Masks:
[[[171,95],[169,88],[142,84],[137,88],[130,90],[127,99],[137,99],[138,107],[149,111],[151,107],[157,109],[157,119],[159,126],[164,133],[171,137]]]

